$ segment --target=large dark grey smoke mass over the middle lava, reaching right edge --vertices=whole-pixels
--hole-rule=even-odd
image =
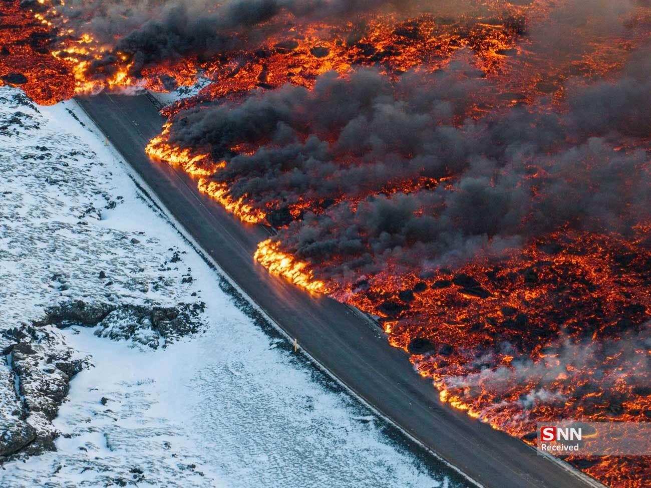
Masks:
[[[648,155],[610,142],[649,135],[651,63],[641,59],[616,83],[568,88],[568,113],[519,107],[455,124],[486,83],[468,66],[396,83],[360,70],[322,76],[311,92],[286,86],[184,112],[171,139],[227,158],[215,179],[258,208],[345,199],[279,235],[326,276],[373,273],[387,259],[412,268],[456,261],[565,224],[626,232],[650,216]],[[230,156],[236,143],[259,149]],[[452,192],[381,194],[450,175]]]

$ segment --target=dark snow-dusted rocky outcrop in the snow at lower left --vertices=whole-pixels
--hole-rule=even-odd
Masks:
[[[203,302],[177,307],[87,303],[72,300],[44,317],[0,332],[0,464],[55,450],[52,420],[66,400],[70,379],[92,366],[59,329],[97,327],[94,334],[156,349],[199,331]]]

